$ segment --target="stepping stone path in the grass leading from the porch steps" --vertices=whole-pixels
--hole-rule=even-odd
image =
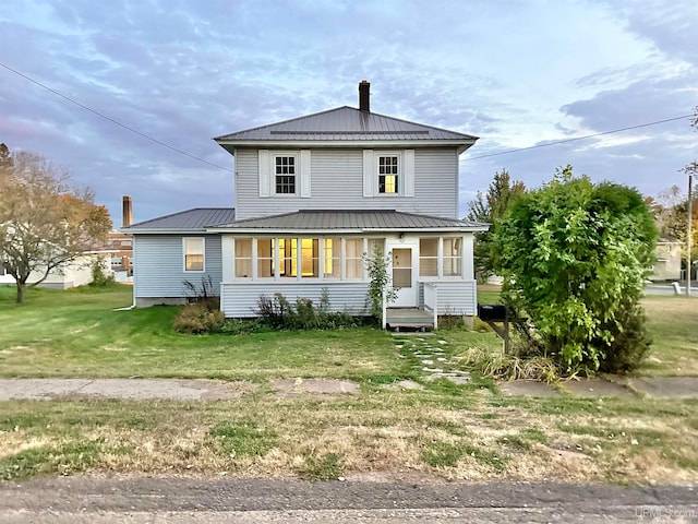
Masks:
[[[470,373],[461,370],[456,359],[447,358],[444,347],[448,342],[442,338],[434,340],[434,335],[425,336],[425,333],[395,333],[393,336],[396,338],[395,347],[401,353],[400,357],[414,357],[414,368],[425,374],[425,380],[446,379],[458,385],[470,382]],[[419,385],[411,381],[406,382],[410,382],[409,386],[401,383],[398,385],[402,389],[416,389],[414,385]]]

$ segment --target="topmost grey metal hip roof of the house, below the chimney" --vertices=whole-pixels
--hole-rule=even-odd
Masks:
[[[456,141],[472,143],[478,138],[342,106],[269,126],[224,134],[214,140],[224,145],[239,141]]]

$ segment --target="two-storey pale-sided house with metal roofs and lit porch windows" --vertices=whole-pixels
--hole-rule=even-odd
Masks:
[[[226,317],[260,296],[366,311],[364,253],[389,257],[392,310],[474,315],[473,234],[458,218],[458,157],[476,136],[338,107],[214,139],[234,157],[234,207],[134,224],[134,303],[181,303],[184,281],[210,278]],[[369,254],[370,255],[370,254]],[[385,317],[385,315],[384,315]],[[389,314],[388,314],[389,318]]]

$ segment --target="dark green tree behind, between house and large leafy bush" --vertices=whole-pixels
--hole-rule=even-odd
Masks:
[[[473,249],[473,263],[478,276],[488,276],[494,272],[493,243],[497,224],[504,216],[509,203],[517,195],[526,191],[524,182],[510,180],[506,169],[494,174],[494,179],[488,188],[488,194],[483,198],[478,191],[476,200],[470,202],[468,219],[492,224],[490,230],[477,233]]]

